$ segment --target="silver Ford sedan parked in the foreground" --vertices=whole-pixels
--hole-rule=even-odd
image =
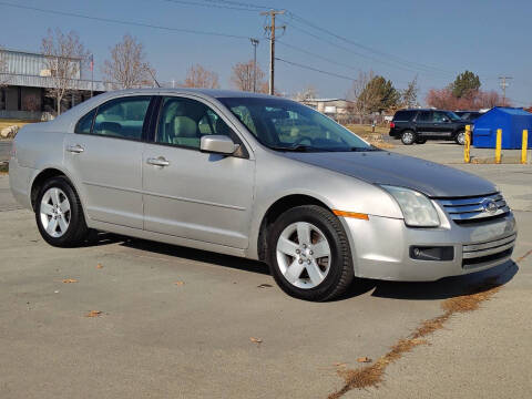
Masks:
[[[483,270],[507,262],[516,237],[492,183],[378,150],[260,94],[101,94],[24,126],[9,170],[51,245],[103,231],[259,259],[308,300],[335,298],[356,277]]]

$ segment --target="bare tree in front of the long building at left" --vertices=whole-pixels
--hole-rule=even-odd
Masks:
[[[63,33],[59,28],[48,30],[42,39],[41,51],[52,85],[48,93],[55,100],[59,115],[64,96],[72,90],[74,80],[81,78],[88,52],[75,32]]]

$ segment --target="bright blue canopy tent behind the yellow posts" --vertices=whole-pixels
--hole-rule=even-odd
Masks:
[[[498,129],[502,129],[502,149],[521,149],[524,129],[529,130],[529,149],[532,149],[532,113],[508,106],[491,109],[474,121],[473,146],[494,149]]]

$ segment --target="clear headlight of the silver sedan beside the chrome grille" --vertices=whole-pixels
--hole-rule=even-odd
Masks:
[[[438,227],[440,225],[440,218],[434,206],[423,194],[403,187],[389,185],[382,185],[381,187],[396,198],[408,226]]]

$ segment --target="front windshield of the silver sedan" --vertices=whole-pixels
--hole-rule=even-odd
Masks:
[[[375,151],[327,116],[285,99],[218,99],[264,145],[277,151]]]

